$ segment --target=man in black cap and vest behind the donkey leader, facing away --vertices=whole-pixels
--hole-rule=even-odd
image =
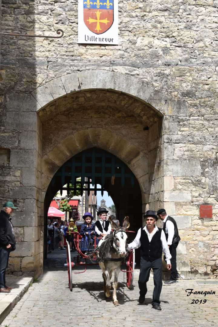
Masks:
[[[167,244],[170,250],[171,258],[171,275],[169,281],[164,282],[164,284],[174,284],[176,283],[176,279],[178,279],[179,273],[176,269],[176,248],[180,241],[178,228],[176,225],[175,219],[173,217],[168,216],[165,209],[159,209],[157,212],[159,218],[163,221],[163,231],[166,235]]]

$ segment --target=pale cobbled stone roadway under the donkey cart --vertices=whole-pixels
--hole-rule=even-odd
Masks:
[[[72,257],[74,253],[72,254]],[[50,326],[217,326],[218,324],[218,281],[179,280],[173,285],[163,285],[161,292],[162,311],[152,309],[153,279],[148,282],[145,303],[139,304],[138,276],[135,271],[134,290],[124,284],[124,273],[119,275],[118,301],[115,307],[112,300],[103,294],[101,270],[88,267],[82,274],[73,275],[73,291],[68,288],[65,251],[48,255],[44,273],[29,287],[23,298],[16,304],[2,327],[50,327]],[[77,267],[74,272],[84,268]],[[126,276],[125,276],[126,278]],[[193,291],[215,291],[214,295],[191,295]],[[207,300],[194,303],[192,300]]]

